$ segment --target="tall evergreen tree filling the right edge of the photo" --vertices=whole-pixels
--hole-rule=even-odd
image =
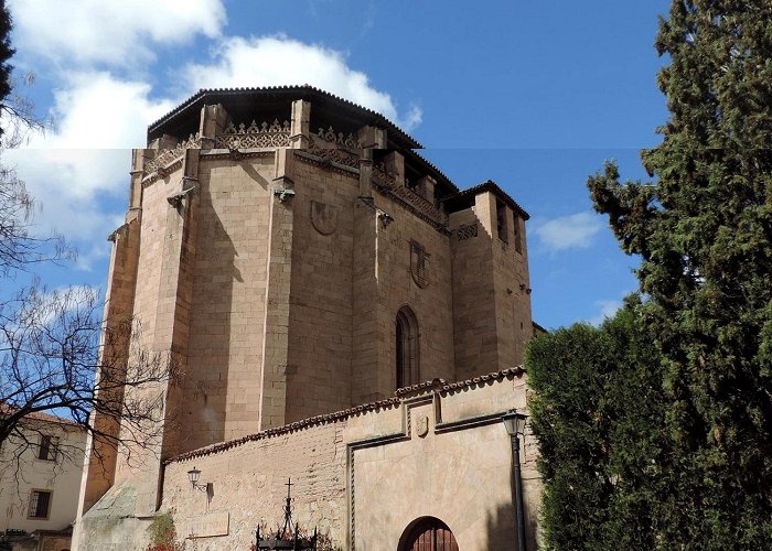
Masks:
[[[674,0],[656,47],[669,120],[651,183],[589,181],[662,353],[657,547],[772,541],[772,2]]]

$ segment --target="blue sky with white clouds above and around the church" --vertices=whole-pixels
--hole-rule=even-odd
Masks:
[[[637,152],[667,118],[653,48],[669,2],[10,0],[23,91],[54,129],[14,163],[35,224],[74,242],[52,288],[104,288],[128,201],[131,147],[201,87],[311,84],[376,109],[460,187],[495,180],[532,215],[534,318],[597,323],[634,290],[591,209],[587,176]]]

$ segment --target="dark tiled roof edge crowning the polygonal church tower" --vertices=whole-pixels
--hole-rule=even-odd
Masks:
[[[156,131],[159,127],[161,127],[163,123],[172,120],[175,116],[180,115],[182,111],[189,109],[190,107],[194,106],[196,102],[202,102],[204,98],[207,97],[227,97],[227,96],[239,96],[239,95],[254,95],[254,96],[287,96],[288,99],[292,97],[293,99],[302,99],[303,97],[315,97],[315,98],[323,98],[328,100],[335,101],[340,104],[342,107],[345,107],[350,110],[356,111],[362,116],[366,116],[369,118],[375,118],[376,121],[385,126],[390,132],[395,132],[400,140],[404,142],[404,147],[407,148],[414,148],[414,149],[421,149],[422,145],[417,142],[414,138],[411,138],[409,134],[407,134],[403,129],[400,129],[398,126],[396,126],[394,122],[388,120],[386,117],[380,115],[377,111],[374,111],[373,109],[368,109],[367,107],[362,107],[361,105],[354,104],[353,101],[342,98],[340,96],[335,96],[334,94],[330,94],[329,91],[322,90],[320,88],[317,88],[314,86],[310,86],[308,84],[302,85],[302,86],[265,86],[265,87],[242,87],[242,88],[202,88],[197,93],[195,93],[193,96],[187,98],[185,101],[176,106],[174,109],[169,111],[167,115],[158,119],[156,122],[151,123],[148,127],[148,133],[152,133]],[[297,97],[296,97],[297,96]],[[302,96],[302,97],[301,97]]]

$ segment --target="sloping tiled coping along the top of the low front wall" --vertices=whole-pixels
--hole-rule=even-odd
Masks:
[[[169,463],[175,463],[180,461],[185,461],[185,460],[192,460],[194,457],[203,457],[206,455],[212,455],[221,452],[225,452],[226,450],[230,450],[232,447],[237,447],[240,446],[242,444],[246,444],[247,442],[255,442],[258,440],[265,440],[270,436],[277,436],[279,434],[286,434],[289,432],[294,432],[301,429],[305,429],[309,426],[313,426],[317,424],[326,424],[335,421],[340,421],[342,419],[346,419],[349,417],[356,415],[358,413],[366,413],[369,411],[375,411],[378,409],[386,409],[386,408],[392,408],[394,406],[399,404],[401,401],[401,397],[405,395],[410,395],[415,393],[421,390],[437,390],[437,391],[448,391],[448,390],[457,390],[457,389],[462,389],[467,387],[471,387],[474,385],[479,385],[480,382],[486,382],[486,381],[494,381],[494,380],[502,380],[505,379],[506,377],[519,377],[525,372],[525,369],[523,369],[522,366],[518,367],[513,367],[511,369],[502,369],[501,371],[494,371],[492,374],[487,375],[481,375],[479,377],[472,377],[470,379],[465,379],[462,381],[458,382],[447,382],[443,379],[433,379],[430,381],[426,382],[420,382],[418,385],[412,385],[410,387],[405,387],[400,388],[397,390],[395,393],[394,398],[386,398],[384,400],[378,400],[375,402],[369,402],[365,403],[362,406],[356,406],[354,408],[349,408],[342,411],[336,411],[334,413],[325,413],[323,415],[317,415],[312,417],[309,419],[303,419],[302,421],[297,421],[294,423],[286,424],[283,426],[277,426],[275,429],[267,429],[265,431],[258,432],[256,434],[249,434],[247,436],[243,436],[240,439],[236,440],[229,440],[227,442],[219,442],[217,444],[212,444],[206,447],[200,447],[199,450],[193,450],[191,452],[186,452],[180,455],[176,455],[174,457],[171,457],[165,461],[167,464]]]

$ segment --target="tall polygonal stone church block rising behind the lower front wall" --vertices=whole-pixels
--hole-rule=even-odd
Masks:
[[[202,90],[150,125],[111,236],[106,348],[168,355],[154,437],[95,419],[81,514],[160,504],[184,452],[522,363],[532,336],[527,213],[461,191],[383,116],[309,87]]]

